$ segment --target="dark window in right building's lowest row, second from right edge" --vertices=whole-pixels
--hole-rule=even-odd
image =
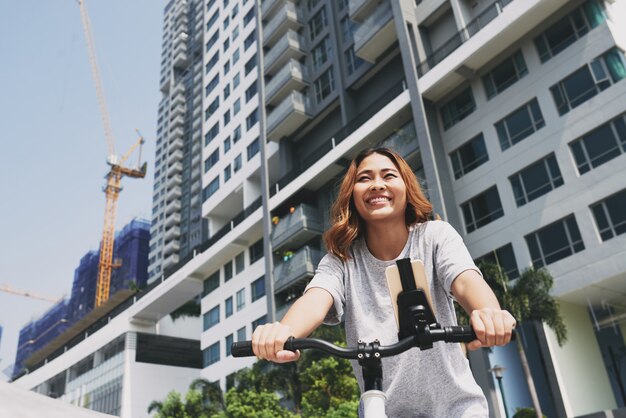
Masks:
[[[585,249],[573,214],[524,238],[535,268],[552,264]]]

